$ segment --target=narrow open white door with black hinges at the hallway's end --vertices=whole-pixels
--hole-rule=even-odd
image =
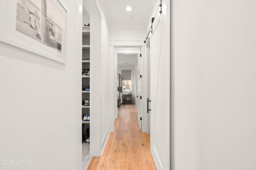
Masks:
[[[141,57],[140,54],[138,54],[138,62],[137,62],[137,97],[138,97],[138,125],[142,127],[142,105],[141,105],[141,88],[142,88],[142,81],[140,78],[140,73],[141,73]]]

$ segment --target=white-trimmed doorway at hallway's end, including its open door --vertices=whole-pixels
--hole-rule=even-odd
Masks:
[[[139,128],[142,132],[149,134],[150,113],[147,113],[147,99],[150,99],[150,41],[147,41],[144,46],[139,47],[114,47],[113,51],[116,54],[117,60],[116,75],[122,77],[120,80],[118,78],[118,83],[116,83],[116,89],[120,89],[122,93],[122,103],[127,103],[125,102],[127,101],[126,98],[129,99],[132,97],[132,103],[134,103],[138,109],[137,120]],[[122,71],[128,70],[132,70],[132,82],[130,83],[128,82],[130,79],[127,79],[126,75],[122,76]],[[119,81],[121,82],[119,83]],[[126,85],[131,85],[129,86],[130,89],[127,89]],[[150,108],[150,103],[148,104]],[[122,106],[122,104],[120,106]],[[117,115],[117,113],[115,115]]]

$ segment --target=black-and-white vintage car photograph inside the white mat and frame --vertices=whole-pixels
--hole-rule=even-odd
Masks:
[[[58,51],[62,50],[63,14],[52,0],[18,0],[16,30]]]

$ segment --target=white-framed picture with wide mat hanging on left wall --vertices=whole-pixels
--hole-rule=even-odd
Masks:
[[[66,64],[67,11],[58,0],[1,0],[0,41]]]

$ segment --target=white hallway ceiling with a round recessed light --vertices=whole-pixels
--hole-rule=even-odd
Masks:
[[[146,28],[156,0],[100,0],[110,28]],[[130,6],[131,11],[126,11]],[[85,10],[83,10],[85,11]],[[129,16],[130,19],[126,19]]]

